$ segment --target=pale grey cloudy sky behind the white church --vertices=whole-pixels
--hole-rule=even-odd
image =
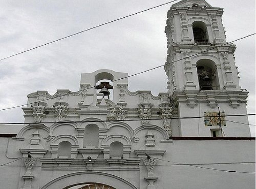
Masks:
[[[0,0],[0,59],[145,10],[167,0]],[[177,2],[177,1],[176,1]],[[224,8],[226,41],[255,33],[255,0],[208,0]],[[246,2],[246,3],[245,3]],[[171,3],[173,4],[173,3]],[[167,4],[0,61],[0,109],[27,103],[37,90],[79,90],[81,73],[112,69],[129,75],[163,65]],[[234,42],[240,86],[249,91],[247,111],[255,113],[255,35]],[[167,92],[163,67],[129,80],[128,89]],[[138,82],[140,81],[140,82]],[[23,122],[21,107],[0,111],[0,123]],[[249,117],[255,124],[255,116]],[[251,126],[255,136],[255,126]]]

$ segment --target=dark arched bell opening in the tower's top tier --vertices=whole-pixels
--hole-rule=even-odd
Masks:
[[[195,21],[192,24],[193,35],[195,43],[207,43],[209,42],[209,36],[206,28],[206,24],[201,21]]]

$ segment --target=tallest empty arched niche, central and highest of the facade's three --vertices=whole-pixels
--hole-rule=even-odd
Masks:
[[[99,127],[96,124],[88,124],[85,126],[83,135],[83,148],[99,147]]]

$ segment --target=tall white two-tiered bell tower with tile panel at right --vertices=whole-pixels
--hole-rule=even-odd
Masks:
[[[239,86],[236,46],[226,44],[222,14],[205,0],[182,0],[168,11],[165,72],[179,117],[247,114],[248,92]],[[220,120],[180,119],[179,135],[250,137],[247,116]]]

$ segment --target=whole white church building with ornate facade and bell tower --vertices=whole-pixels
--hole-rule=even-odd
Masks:
[[[128,73],[101,69],[77,92],[27,95],[31,124],[0,134],[0,188],[255,188],[248,92],[222,14],[205,0],[171,6],[166,93],[131,92]]]

